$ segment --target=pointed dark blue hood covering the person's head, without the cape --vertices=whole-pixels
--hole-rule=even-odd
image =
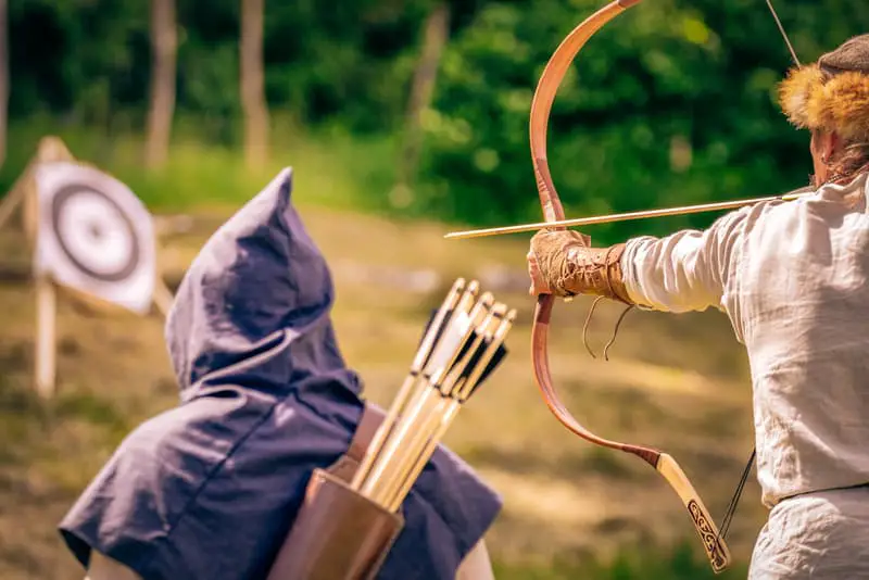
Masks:
[[[193,260],[166,320],[181,399],[235,384],[286,395],[360,384],[338,348],[328,264],[291,203],[284,169]]]

